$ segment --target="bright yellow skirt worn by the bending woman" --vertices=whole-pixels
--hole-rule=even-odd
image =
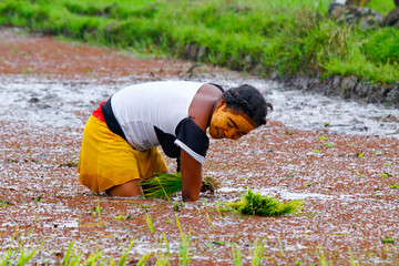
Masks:
[[[134,150],[105,122],[91,115],[84,131],[79,157],[79,182],[100,193],[132,180],[145,180],[163,173],[167,165],[156,147]]]

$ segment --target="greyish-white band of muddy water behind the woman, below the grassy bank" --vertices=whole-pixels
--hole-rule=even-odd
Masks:
[[[327,98],[319,94],[283,88],[264,80],[243,80],[239,76],[212,76],[193,79],[218,82],[228,89],[246,82],[258,88],[275,112],[269,119],[288,127],[300,130],[328,130],[340,134],[399,136],[399,110],[382,105],[361,104]],[[76,113],[90,114],[100,101],[127,84],[125,80],[113,84],[54,83],[34,79],[0,79],[0,113],[3,119],[27,121],[39,126],[82,127]]]

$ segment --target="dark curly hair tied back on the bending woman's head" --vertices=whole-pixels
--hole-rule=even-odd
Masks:
[[[248,84],[232,88],[222,94],[227,108],[241,111],[249,116],[255,127],[266,124],[267,108],[273,111],[272,103],[265,101],[258,90]]]

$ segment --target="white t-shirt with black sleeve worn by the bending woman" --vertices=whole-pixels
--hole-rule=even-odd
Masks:
[[[202,85],[191,81],[160,81],[131,85],[113,94],[112,112],[129,144],[139,151],[160,145],[155,127],[176,137],[177,125],[188,117],[188,108]],[[204,161],[205,154],[193,151],[178,137],[174,144],[200,163]]]

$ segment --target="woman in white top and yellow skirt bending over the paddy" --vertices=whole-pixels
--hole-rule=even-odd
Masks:
[[[84,132],[79,182],[110,196],[140,196],[140,182],[168,173],[160,151],[181,161],[183,201],[200,197],[202,163],[214,139],[233,139],[266,124],[267,108],[250,85],[228,91],[188,81],[127,86],[93,112]]]

